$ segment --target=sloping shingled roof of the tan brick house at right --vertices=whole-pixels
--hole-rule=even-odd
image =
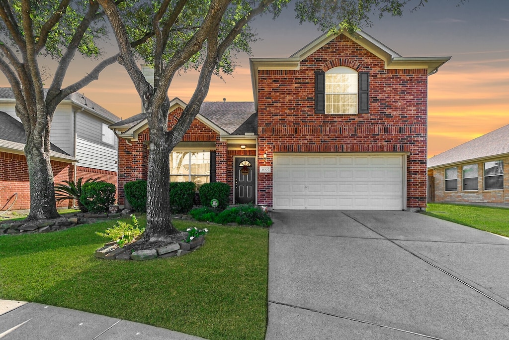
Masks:
[[[444,151],[428,160],[428,168],[509,155],[509,125]]]

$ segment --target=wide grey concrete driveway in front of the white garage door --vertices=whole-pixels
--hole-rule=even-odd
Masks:
[[[407,212],[272,218],[267,340],[509,338],[509,240]]]

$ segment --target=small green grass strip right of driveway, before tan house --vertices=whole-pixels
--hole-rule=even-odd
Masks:
[[[428,203],[425,214],[509,237],[509,208]]]

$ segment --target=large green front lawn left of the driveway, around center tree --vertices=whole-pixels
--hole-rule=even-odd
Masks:
[[[79,309],[208,339],[264,338],[267,229],[175,221],[183,230],[207,227],[205,246],[150,261],[97,259],[94,251],[106,240],[95,232],[113,224],[0,237],[0,299]]]

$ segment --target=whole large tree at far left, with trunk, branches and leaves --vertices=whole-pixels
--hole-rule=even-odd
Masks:
[[[49,133],[56,106],[69,94],[98,78],[111,57],[98,62],[81,80],[62,88],[76,53],[99,57],[96,41],[105,34],[99,4],[89,0],[0,0],[0,70],[16,99],[16,115],[26,135],[24,148],[30,178],[28,219],[55,218],[53,172],[49,160]],[[40,58],[58,60],[46,80]],[[51,78],[51,77],[50,77]]]

